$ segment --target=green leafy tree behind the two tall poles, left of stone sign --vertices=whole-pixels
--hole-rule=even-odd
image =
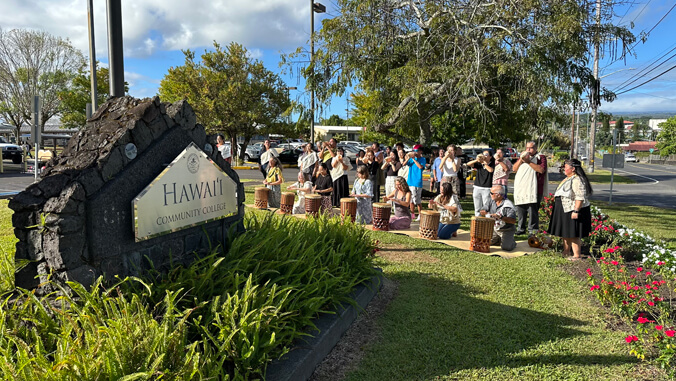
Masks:
[[[110,90],[107,67],[96,69],[96,98],[98,104],[108,99]],[[129,84],[124,83],[125,93],[129,91]],[[91,103],[91,75],[89,67],[82,67],[73,79],[73,85],[59,92],[61,99],[61,127],[82,128],[87,123],[87,103]],[[95,111],[95,110],[94,110]]]

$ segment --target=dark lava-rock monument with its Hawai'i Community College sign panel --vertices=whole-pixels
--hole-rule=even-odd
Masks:
[[[112,99],[10,201],[16,285],[188,264],[243,230],[244,187],[185,101]],[[42,287],[49,291],[49,287]]]

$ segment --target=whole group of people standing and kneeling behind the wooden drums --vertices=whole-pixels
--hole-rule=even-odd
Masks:
[[[303,155],[298,159],[298,181],[287,188],[298,194],[293,213],[304,213],[305,195],[309,193],[322,197],[323,211],[340,207],[341,198],[354,197],[357,222],[370,224],[373,221],[372,204],[381,201],[380,189],[384,185],[382,201],[391,203],[394,211],[390,229],[407,229],[412,220],[420,219],[423,171],[428,167],[430,190],[438,193],[430,200],[429,208],[441,213],[439,237],[450,238],[460,227],[465,172],[475,170],[474,215],[496,220],[493,244],[500,245],[503,250],[513,250],[515,235],[539,231],[539,207],[548,192],[548,164],[535,142],[526,144],[526,150],[514,164],[505,157],[502,149],[497,149],[494,154],[485,150],[475,159],[463,163],[462,149],[449,145],[435,152],[436,157],[429,166],[419,144],[406,152],[403,144],[383,150],[374,142],[357,157],[352,190],[347,178],[352,163],[337,144],[338,141],[332,138],[318,143],[317,150],[310,143],[303,147]],[[267,140],[264,149],[261,171],[265,176],[264,184],[271,190],[268,203],[271,207],[279,207],[280,185],[284,182],[281,163]],[[515,174],[513,201],[507,197],[508,179],[512,173]],[[564,253],[580,258],[581,238],[591,230],[588,198],[592,189],[579,161],[567,161],[564,173],[567,177],[556,190],[556,204],[548,231],[564,238]]]

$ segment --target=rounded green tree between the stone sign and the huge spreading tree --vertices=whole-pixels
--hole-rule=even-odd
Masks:
[[[200,61],[193,51],[183,54],[185,64],[170,68],[160,82],[160,98],[186,99],[207,132],[226,134],[233,149],[242,136],[241,158],[254,135],[288,124],[286,85],[261,61],[252,59],[245,47],[233,42],[223,48],[214,42],[214,50],[205,51]]]

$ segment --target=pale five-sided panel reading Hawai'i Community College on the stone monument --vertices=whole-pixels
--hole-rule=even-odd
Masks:
[[[136,241],[237,214],[237,183],[191,143],[132,202]]]

